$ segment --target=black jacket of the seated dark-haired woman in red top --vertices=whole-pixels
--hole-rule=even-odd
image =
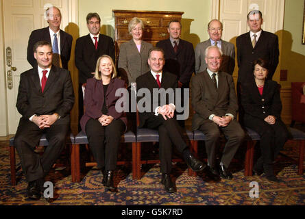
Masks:
[[[280,90],[276,81],[265,81],[263,95],[260,95],[254,79],[242,84],[241,105],[245,113],[245,119],[253,116],[264,120],[267,116],[280,118],[282,103]]]

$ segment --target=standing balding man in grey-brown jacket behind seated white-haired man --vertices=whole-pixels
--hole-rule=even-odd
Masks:
[[[235,67],[235,50],[234,44],[221,40],[223,25],[217,19],[213,19],[208,23],[208,35],[210,38],[204,42],[197,44],[195,48],[195,73],[201,73],[206,70],[206,62],[204,52],[210,46],[217,46],[223,52],[223,60],[221,62],[221,71],[233,74]]]

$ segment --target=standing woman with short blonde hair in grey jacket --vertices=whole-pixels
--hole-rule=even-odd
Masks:
[[[118,68],[120,76],[128,77],[128,86],[136,82],[136,77],[149,71],[148,51],[153,48],[149,42],[143,41],[144,25],[139,18],[132,18],[128,25],[132,39],[120,46]]]

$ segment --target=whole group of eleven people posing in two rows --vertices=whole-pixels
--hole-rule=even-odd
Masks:
[[[27,196],[39,199],[44,177],[64,148],[74,103],[71,75],[67,69],[72,36],[60,30],[61,14],[56,7],[48,8],[49,27],[32,31],[27,48],[27,60],[33,66],[21,74],[16,107],[22,114],[14,145],[21,157],[27,178]],[[114,190],[113,175],[121,134],[127,129],[125,112],[115,105],[119,88],[151,91],[164,88],[190,88],[194,110],[193,130],[206,136],[208,164],[197,159],[183,137],[184,120],[175,118],[175,103],[167,99],[164,105],[139,112],[139,128],[156,129],[159,133],[161,183],[167,192],[175,192],[171,177],[172,144],[195,172],[205,171],[212,179],[232,179],[230,162],[243,142],[245,133],[237,121],[239,110],[232,73],[235,65],[234,45],[221,39],[222,23],[208,23],[210,38],[193,44],[180,38],[180,21],[171,21],[169,38],[153,47],[143,41],[145,27],[139,18],[132,18],[128,31],[132,39],[121,44],[118,70],[115,67],[112,38],[100,34],[101,19],[97,13],[86,17],[89,34],[76,40],[75,65],[79,70],[80,127],[86,133],[90,150],[103,174],[103,185]],[[260,151],[254,172],[270,181],[278,181],[273,173],[273,161],[288,138],[280,120],[282,105],[278,83],[271,81],[278,65],[278,37],[261,29],[262,14],[249,12],[250,31],[236,39],[239,66],[239,101],[243,108],[243,123],[260,137]],[[193,73],[195,76],[191,79]],[[119,77],[121,79],[119,79]],[[84,84],[86,84],[84,86]],[[85,87],[84,95],[82,86]],[[162,94],[164,90],[160,89]],[[182,92],[183,93],[183,92]],[[147,97],[137,97],[141,101]],[[182,98],[181,98],[182,99]],[[183,99],[182,99],[183,100]],[[182,101],[183,103],[183,101]],[[188,104],[188,103],[184,103]],[[85,112],[83,109],[86,109]],[[217,159],[219,136],[228,139],[220,159]],[[45,133],[49,146],[40,156],[34,149]]]

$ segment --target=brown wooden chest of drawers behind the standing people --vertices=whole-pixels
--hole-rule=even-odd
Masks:
[[[141,18],[145,30],[143,40],[154,46],[160,40],[169,38],[167,25],[171,20],[181,21],[184,12],[159,12],[159,11],[134,11],[134,10],[112,10],[114,15],[114,42],[116,58],[119,56],[119,47],[123,42],[132,38],[128,32],[128,24],[132,18]]]

